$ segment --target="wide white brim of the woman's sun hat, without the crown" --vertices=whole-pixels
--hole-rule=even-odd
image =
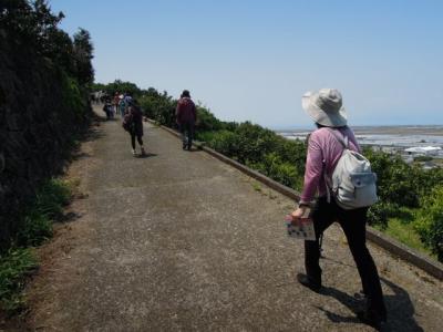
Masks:
[[[316,93],[308,92],[301,98],[301,107],[316,123],[327,127],[342,127],[348,124],[344,107],[334,114],[327,113],[315,103],[317,97]]]

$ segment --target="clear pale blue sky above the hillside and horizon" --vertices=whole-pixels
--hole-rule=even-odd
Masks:
[[[342,92],[351,125],[443,124],[443,1],[51,0],[91,32],[95,79],[178,96],[219,118],[309,126],[306,91]]]

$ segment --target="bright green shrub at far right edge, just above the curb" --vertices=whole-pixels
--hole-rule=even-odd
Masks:
[[[423,198],[415,229],[422,241],[443,261],[443,185]]]

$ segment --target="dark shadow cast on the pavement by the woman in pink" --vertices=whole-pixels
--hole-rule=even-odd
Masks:
[[[401,287],[394,284],[388,279],[381,278],[392,291],[393,295],[384,295],[384,301],[388,310],[388,325],[383,331],[423,331],[414,319],[414,307],[409,293]],[[347,293],[330,287],[322,289],[321,294],[332,297],[343,305],[348,307],[354,314],[364,310],[364,299],[357,299]],[[334,323],[359,323],[357,317],[342,317],[321,307],[317,307],[324,312],[328,319]],[[362,322],[360,322],[363,324]]]

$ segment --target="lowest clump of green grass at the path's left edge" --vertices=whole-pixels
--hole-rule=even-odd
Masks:
[[[8,313],[24,307],[21,293],[27,277],[38,267],[30,249],[11,248],[0,255],[0,307]]]

